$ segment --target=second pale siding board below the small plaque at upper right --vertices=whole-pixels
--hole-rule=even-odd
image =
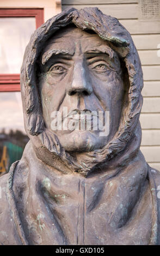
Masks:
[[[156,49],[157,45],[160,44],[160,34],[132,35],[132,39],[136,45],[137,50]]]

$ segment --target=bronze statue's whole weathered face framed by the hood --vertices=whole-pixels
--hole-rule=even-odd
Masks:
[[[66,27],[47,42],[39,76],[42,113],[46,127],[54,130],[65,150],[93,151],[114,137],[124,95],[121,74],[118,55],[96,34]],[[56,111],[61,124],[53,120]],[[108,120],[105,112],[109,112]],[[97,128],[93,125],[96,120]],[[106,128],[102,130],[99,124],[105,126],[106,122],[109,134],[102,136]],[[61,129],[53,129],[53,123]]]

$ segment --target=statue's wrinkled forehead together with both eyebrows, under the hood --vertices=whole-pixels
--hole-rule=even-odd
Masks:
[[[92,39],[94,37],[95,44],[87,44],[86,39]],[[84,55],[86,58],[88,57],[94,57],[97,55],[103,55],[106,56],[106,60],[110,59],[109,64],[113,64],[115,70],[120,72],[120,63],[119,63],[119,58],[118,55],[110,48],[107,46],[107,44],[99,38],[98,35],[90,35],[86,39],[82,38],[77,38],[75,40],[72,40],[71,37],[68,35],[63,38],[54,38],[51,40],[47,47],[45,48],[45,52],[42,54],[42,65],[45,65],[50,59],[53,60],[55,58],[61,58],[61,59],[71,59],[74,54],[79,54],[79,57]],[[101,40],[101,44],[100,41]],[[66,44],[67,41],[67,44]],[[78,47],[75,47],[78,44]],[[75,52],[78,51],[78,52]],[[53,58],[52,58],[53,57]],[[116,60],[116,62],[115,62]],[[118,65],[115,65],[118,64]],[[120,73],[119,73],[120,74]]]

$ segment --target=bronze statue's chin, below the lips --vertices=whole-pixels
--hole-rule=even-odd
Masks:
[[[90,131],[72,131],[70,134],[58,136],[60,144],[68,152],[82,153],[100,149],[107,144],[108,137]]]

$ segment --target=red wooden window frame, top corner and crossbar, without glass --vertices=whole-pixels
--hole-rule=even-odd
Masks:
[[[44,9],[42,8],[1,8],[0,17],[35,17],[36,28],[44,23]],[[0,92],[19,92],[20,74],[0,74]]]

